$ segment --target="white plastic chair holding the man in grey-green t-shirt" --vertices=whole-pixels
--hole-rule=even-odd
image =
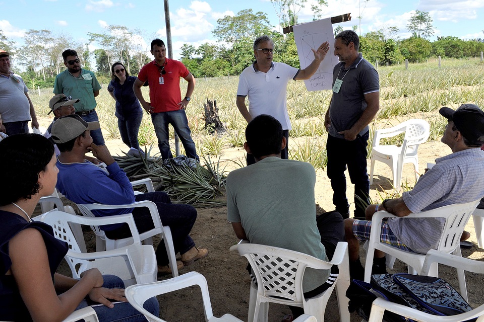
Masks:
[[[267,321],[269,302],[302,307],[306,314],[314,315],[318,322],[323,322],[326,303],[335,286],[340,319],[349,322],[348,298],[345,296],[349,287],[346,242],[338,243],[331,262],[282,248],[248,243],[234,245],[230,251],[237,251],[240,256],[247,258],[257,279],[257,285],[251,283],[249,322]],[[338,278],[333,285],[323,293],[305,299],[302,277],[306,268],[329,270],[333,265],[339,268]]]

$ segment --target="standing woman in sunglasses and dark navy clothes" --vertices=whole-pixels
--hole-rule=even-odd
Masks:
[[[143,110],[133,92],[136,78],[136,76],[130,76],[125,65],[115,62],[111,67],[111,82],[107,91],[116,101],[115,115],[121,139],[129,147],[139,149],[138,131],[143,118]]]

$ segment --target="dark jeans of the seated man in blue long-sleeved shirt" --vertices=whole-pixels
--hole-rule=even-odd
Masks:
[[[170,197],[162,192],[155,191],[135,196],[136,201],[149,200],[153,201],[158,207],[161,223],[163,226],[169,226],[173,238],[173,247],[175,254],[185,254],[195,246],[192,237],[189,236],[195,220],[197,219],[197,210],[191,205],[172,204]],[[133,210],[136,227],[140,233],[153,229],[153,220],[149,210],[145,207],[135,208]],[[131,236],[130,228],[127,224],[105,231],[109,239],[120,239]],[[168,255],[166,253],[165,243],[161,241],[156,248],[156,260],[158,265],[168,265]]]

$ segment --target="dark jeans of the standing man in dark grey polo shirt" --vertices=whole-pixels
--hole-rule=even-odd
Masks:
[[[349,178],[354,184],[354,216],[365,219],[365,206],[361,200],[370,204],[370,180],[367,172],[367,145],[369,133],[357,136],[353,141],[328,135],[326,152],[328,165],[326,172],[333,188],[333,204],[339,213],[348,213],[346,199],[346,177],[344,171],[348,166]],[[358,198],[359,197],[359,198]],[[361,200],[358,200],[361,199]]]

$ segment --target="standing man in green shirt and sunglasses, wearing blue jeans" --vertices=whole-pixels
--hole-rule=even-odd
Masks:
[[[86,122],[99,122],[95,110],[97,105],[95,97],[99,95],[101,85],[97,81],[96,75],[90,70],[81,68],[75,50],[65,50],[62,57],[67,69],[55,77],[54,94],[79,98],[80,101],[74,104],[76,114]],[[100,128],[91,131],[91,137],[96,145],[104,144]]]

